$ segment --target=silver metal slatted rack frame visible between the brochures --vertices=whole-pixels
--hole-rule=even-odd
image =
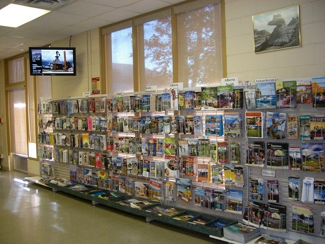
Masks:
[[[242,87],[242,88],[247,88],[246,87]],[[196,92],[201,91],[201,89],[193,89],[193,88],[185,88],[184,90],[194,90]],[[159,90],[158,93],[164,93],[166,92],[166,90]],[[244,92],[241,91],[239,92],[241,94],[242,97],[244,97]],[[122,96],[132,96],[132,95],[143,95],[144,93],[138,92],[138,93],[124,93],[122,94]],[[116,97],[116,95],[113,94],[108,94],[108,95],[95,95],[95,96],[91,96],[90,98],[109,98],[109,97]],[[86,99],[86,98],[82,98],[82,97],[69,97],[68,100],[67,99],[59,99],[56,101],[71,101],[71,100],[77,100],[77,99]],[[185,116],[185,115],[199,115],[202,117],[202,135],[201,136],[197,136],[197,135],[188,135],[188,134],[177,134],[177,135],[168,135],[168,134],[150,134],[150,133],[122,133],[122,132],[102,132],[102,134],[105,134],[106,136],[114,136],[114,135],[120,135],[120,136],[127,136],[127,137],[141,137],[141,138],[154,138],[154,139],[161,139],[161,138],[165,138],[166,136],[169,137],[173,137],[176,140],[182,140],[184,138],[198,138],[198,139],[212,139],[215,141],[225,141],[228,142],[228,145],[225,145],[223,150],[220,150],[220,154],[218,155],[218,157],[220,158],[224,158],[225,154],[230,154],[230,156],[228,155],[228,159],[231,161],[229,164],[233,165],[233,166],[237,166],[237,165],[241,165],[242,168],[237,168],[237,169],[233,169],[234,170],[234,174],[236,175],[236,180],[237,181],[243,181],[244,182],[244,186],[240,185],[238,187],[234,186],[233,184],[231,185],[226,185],[226,184],[219,184],[218,182],[212,183],[212,181],[210,182],[205,182],[204,180],[199,182],[198,181],[198,175],[195,173],[194,175],[180,175],[183,178],[189,179],[191,182],[191,195],[192,195],[192,199],[190,202],[188,203],[184,203],[183,201],[178,199],[178,196],[176,194],[176,188],[175,188],[175,192],[174,192],[174,196],[173,199],[175,199],[175,201],[170,201],[170,200],[165,200],[164,202],[168,205],[171,206],[175,206],[175,207],[182,207],[188,210],[196,210],[196,211],[200,211],[202,213],[205,214],[209,214],[209,215],[215,215],[215,216],[221,216],[221,217],[225,217],[225,218],[229,218],[229,219],[234,219],[234,220],[242,220],[243,217],[243,211],[241,212],[241,214],[235,214],[234,212],[229,212],[229,211],[222,211],[220,210],[220,208],[224,208],[225,204],[227,203],[227,199],[226,199],[226,195],[225,195],[225,191],[226,189],[233,189],[233,190],[240,190],[243,191],[243,200],[242,200],[242,208],[244,208],[249,201],[251,200],[251,184],[250,181],[252,178],[263,178],[264,181],[266,182],[268,179],[274,179],[272,177],[267,177],[267,176],[262,176],[262,170],[265,169],[261,168],[261,167],[253,167],[253,166],[249,166],[249,165],[245,165],[246,162],[246,154],[247,154],[247,143],[249,141],[252,141],[252,139],[248,139],[245,137],[246,135],[246,123],[245,123],[245,118],[244,118],[244,114],[245,111],[251,111],[250,109],[246,109],[245,107],[245,98],[243,99],[243,108],[242,109],[230,109],[230,110],[226,110],[226,109],[217,109],[215,111],[207,111],[207,110],[189,110],[189,111],[161,111],[161,112],[150,112],[150,111],[140,111],[140,109],[137,109],[137,107],[139,106],[139,104],[130,104],[130,109],[133,109],[133,112],[111,112],[111,111],[106,111],[105,113],[99,113],[101,114],[101,116],[124,116],[124,117],[128,117],[128,116],[137,116],[137,117],[141,117],[143,115],[151,115],[151,116],[159,116],[159,115],[171,115],[171,116]],[[288,115],[290,114],[309,114],[310,113],[310,107],[311,105],[301,105],[299,104],[297,108],[293,109],[293,108],[288,108],[288,109],[270,109],[269,111],[272,112],[282,112],[282,113],[287,113]],[[258,109],[253,109],[254,111],[261,111],[261,112],[266,112],[267,110],[258,110]],[[319,114],[321,112],[323,112],[324,109],[323,108],[314,108],[312,110],[312,114]],[[223,115],[224,112],[227,113],[236,113],[236,112],[240,112],[242,114],[242,121],[241,121],[241,132],[239,132],[239,134],[241,134],[241,136],[239,137],[218,137],[218,136],[205,136],[205,115]],[[75,116],[90,116],[92,115],[92,113],[79,113],[79,114],[72,114]],[[40,117],[43,116],[43,114],[39,115]],[[70,116],[70,114],[52,114],[52,116],[56,116],[56,117],[63,117],[63,116]],[[264,117],[264,119],[266,119]],[[266,123],[265,123],[266,124]],[[228,124],[224,124],[224,131],[228,130],[229,125]],[[185,130],[190,130],[190,128],[188,128],[189,125],[185,124]],[[244,129],[245,128],[245,129]],[[266,128],[266,126],[265,126]],[[304,128],[305,130],[306,128]],[[60,132],[69,132],[69,130],[59,130]],[[57,132],[56,129],[53,130],[53,132]],[[266,134],[266,129],[263,131],[264,135]],[[321,132],[322,133],[322,132]],[[269,139],[266,138],[261,138],[261,139],[257,139],[257,141],[264,141],[265,144]],[[281,140],[281,142],[288,142],[288,143],[292,143],[293,140],[290,139],[283,139]],[[231,142],[237,142],[239,143],[239,151],[240,151],[240,164],[236,164],[234,163],[236,161],[235,158],[233,158],[233,154],[232,151],[233,149],[236,150],[237,146],[231,145]],[[298,145],[301,145],[301,141],[294,141],[295,144],[297,143]],[[41,144],[39,144],[40,146]],[[69,149],[76,149],[76,150],[85,150],[85,151],[95,151],[94,149],[86,149],[86,148],[71,148],[69,146],[61,146],[61,145],[54,145],[53,147],[58,147],[58,148],[69,148]],[[122,156],[125,158],[136,158],[136,159],[146,159],[149,161],[155,161],[155,162],[164,162],[164,158],[161,157],[157,157],[157,156],[147,156],[147,155],[133,155],[133,154],[129,154],[129,153],[121,153],[118,151],[112,151],[109,152],[107,150],[99,150],[99,153],[105,153],[107,155],[113,156],[113,157],[117,157],[117,156]],[[179,158],[182,158],[181,156],[177,156]],[[194,157],[194,167],[198,166],[198,163],[201,164],[207,164],[207,165],[218,165],[220,167],[222,167],[222,171],[224,171],[224,163],[214,163],[214,162],[210,162],[210,158],[208,157]],[[237,159],[238,160],[238,159]],[[56,162],[53,159],[40,159],[40,165],[43,161],[46,162],[50,162],[53,166],[54,166],[54,170],[56,173],[56,177],[57,178],[69,178],[70,177],[70,169],[69,169],[69,163],[62,163],[62,162]],[[142,167],[142,166],[141,166]],[[84,166],[82,166],[82,168],[84,168]],[[281,205],[285,205],[286,208],[286,221],[287,221],[287,232],[290,232],[290,235],[292,236],[292,238],[294,238],[294,234],[291,234],[291,232],[295,232],[294,230],[292,230],[291,228],[291,222],[292,222],[292,207],[291,204],[293,203],[291,200],[288,199],[288,174],[290,174],[290,176],[297,176],[300,177],[301,179],[305,176],[311,176],[311,177],[315,177],[315,178],[323,178],[324,174],[323,173],[312,173],[312,172],[304,172],[304,171],[294,171],[294,170],[289,170],[289,169],[275,169],[275,168],[270,168],[271,170],[276,171],[276,178],[278,180],[278,186],[279,186],[279,204]],[[108,171],[110,172],[110,171]],[[243,175],[241,174],[243,172]],[[111,173],[111,172],[110,172]],[[145,182],[145,184],[149,184],[149,181],[151,180],[150,177],[144,177],[144,176],[139,176],[139,175],[132,175],[132,174],[113,174],[113,177],[109,178],[109,186],[110,189],[113,191],[117,191],[118,187],[119,187],[119,181],[118,181],[118,177],[127,177],[130,179],[131,182],[135,181],[142,181]],[[242,177],[242,178],[241,178]],[[161,180],[161,179],[155,179],[155,180]],[[176,178],[167,178],[166,180],[162,180],[163,184],[161,187],[161,194],[162,194],[162,198],[164,199],[166,198],[166,183],[169,182],[176,182]],[[225,182],[225,179],[223,178],[223,182]],[[264,197],[263,197],[263,202],[267,202],[267,189],[266,189],[267,184],[264,184]],[[323,186],[321,186],[322,189]],[[194,194],[194,192],[196,191],[196,189],[216,189],[218,190],[215,193],[211,193],[213,194],[213,196],[211,194],[207,194],[205,196],[205,199],[209,199],[211,197],[213,197],[214,199],[214,204],[215,204],[215,209],[213,209],[213,207],[211,206],[211,201],[208,200],[207,204],[202,202],[202,199],[199,197],[199,195]],[[134,194],[134,185],[130,185],[128,187],[125,187],[125,193],[127,194]],[[209,192],[209,191],[207,191]],[[301,199],[301,196],[300,196]],[[320,224],[320,216],[318,215],[318,213],[320,213],[321,211],[324,211],[324,205],[321,204],[316,204],[316,203],[303,203],[301,201],[294,201],[295,204],[301,204],[301,205],[309,205],[312,206],[314,208],[314,225],[315,225],[315,233],[311,234],[313,236],[317,235],[317,231],[319,229],[319,224]],[[198,206],[198,205],[201,205]],[[203,206],[204,205],[204,206]],[[281,234],[280,232],[272,232],[268,229],[264,229],[262,230],[262,232],[267,232],[267,233],[271,233],[274,235],[282,235],[282,236],[287,236],[287,234]]]

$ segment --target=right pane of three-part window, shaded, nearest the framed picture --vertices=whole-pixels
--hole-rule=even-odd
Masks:
[[[184,87],[216,85],[222,77],[219,6],[177,14],[178,73]]]

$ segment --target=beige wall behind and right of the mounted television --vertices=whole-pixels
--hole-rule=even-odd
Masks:
[[[66,38],[51,44],[52,47],[69,47]],[[82,96],[91,91],[91,78],[100,77],[100,34],[99,28],[72,36],[71,47],[76,47],[77,76],[52,77],[52,98]]]

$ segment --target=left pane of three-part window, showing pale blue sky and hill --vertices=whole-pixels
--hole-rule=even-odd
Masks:
[[[112,31],[106,35],[105,39],[108,92],[133,92],[132,27]]]

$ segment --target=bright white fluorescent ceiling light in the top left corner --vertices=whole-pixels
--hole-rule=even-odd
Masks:
[[[0,10],[0,25],[18,27],[49,12],[51,11],[10,4]]]

